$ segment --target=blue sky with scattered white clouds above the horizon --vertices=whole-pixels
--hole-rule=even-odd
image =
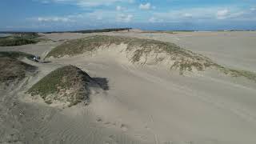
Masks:
[[[256,30],[256,0],[0,0],[0,31]]]

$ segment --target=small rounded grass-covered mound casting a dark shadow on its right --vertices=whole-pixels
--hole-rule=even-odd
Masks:
[[[70,102],[73,106],[82,100],[88,100],[88,85],[92,78],[75,66],[63,66],[47,74],[28,90],[32,96],[40,95],[46,103],[54,100]]]

